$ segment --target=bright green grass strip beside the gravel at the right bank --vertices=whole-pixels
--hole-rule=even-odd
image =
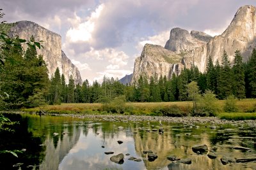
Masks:
[[[256,113],[220,113],[218,117],[226,120],[256,120]]]

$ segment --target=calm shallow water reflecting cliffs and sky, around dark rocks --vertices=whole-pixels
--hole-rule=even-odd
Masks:
[[[101,122],[68,117],[39,117],[36,115],[8,115],[19,120],[13,134],[1,134],[0,150],[26,149],[17,153],[0,154],[0,169],[256,169],[256,163],[232,163],[223,165],[220,158],[256,157],[256,131],[246,125],[184,125],[163,122],[164,133],[147,132],[158,129],[158,122]],[[118,127],[124,130],[118,130]],[[154,126],[154,127],[153,127]],[[140,129],[143,128],[143,129]],[[58,135],[54,136],[54,133]],[[118,140],[124,141],[121,145]],[[217,159],[198,155],[191,150],[196,144],[215,147]],[[104,148],[102,148],[104,146]],[[251,151],[234,150],[232,146],[244,146]],[[158,158],[148,162],[143,150],[156,152]],[[124,164],[115,164],[112,155],[104,152],[129,153]],[[170,164],[168,155],[180,159],[191,158],[192,164]],[[128,160],[129,157],[141,162]],[[17,164],[20,163],[20,164]],[[13,166],[14,165],[14,166]]]

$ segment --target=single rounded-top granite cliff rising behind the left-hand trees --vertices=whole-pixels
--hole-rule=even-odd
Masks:
[[[70,59],[61,50],[61,36],[44,27],[30,21],[19,21],[13,25],[9,31],[10,36],[19,35],[22,39],[29,39],[32,35],[36,41],[44,41],[44,48],[38,50],[38,54],[44,56],[47,63],[49,76],[54,74],[59,67],[60,73],[64,74],[66,82],[72,74],[75,83],[82,83],[81,75],[77,67],[72,64]]]

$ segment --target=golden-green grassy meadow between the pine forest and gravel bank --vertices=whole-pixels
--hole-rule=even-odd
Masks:
[[[225,100],[215,102],[216,116],[227,120],[256,120],[256,99],[243,99],[236,101],[236,112],[227,113],[224,111]],[[120,107],[119,105],[113,107]],[[163,116],[163,108],[170,108],[171,112],[179,112],[181,115],[168,116],[188,116],[191,115],[193,103],[191,101],[182,102],[163,102],[163,103],[125,103],[124,111],[116,111],[124,115],[152,115]],[[172,110],[172,108],[175,108]],[[45,113],[57,114],[112,114],[115,111],[109,111],[101,103],[70,103],[61,105],[46,105],[37,108],[22,109],[27,113],[39,113],[43,110]],[[122,109],[121,109],[122,110]]]

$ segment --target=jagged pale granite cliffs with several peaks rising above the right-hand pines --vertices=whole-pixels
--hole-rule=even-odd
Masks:
[[[204,32],[174,28],[170,32],[170,39],[164,48],[156,45],[145,45],[141,56],[135,60],[132,82],[140,78],[140,75],[149,78],[152,75],[166,75],[172,77],[172,73],[179,74],[186,66],[195,65],[204,73],[209,56],[215,64],[221,63],[223,51],[231,61],[234,60],[234,52],[240,50],[243,60],[248,60],[250,53],[256,46],[256,7],[242,6],[237,10],[231,24],[219,36],[213,38]],[[169,62],[164,61],[164,55],[168,53]],[[177,57],[179,56],[179,57]],[[160,59],[161,58],[161,59]]]

